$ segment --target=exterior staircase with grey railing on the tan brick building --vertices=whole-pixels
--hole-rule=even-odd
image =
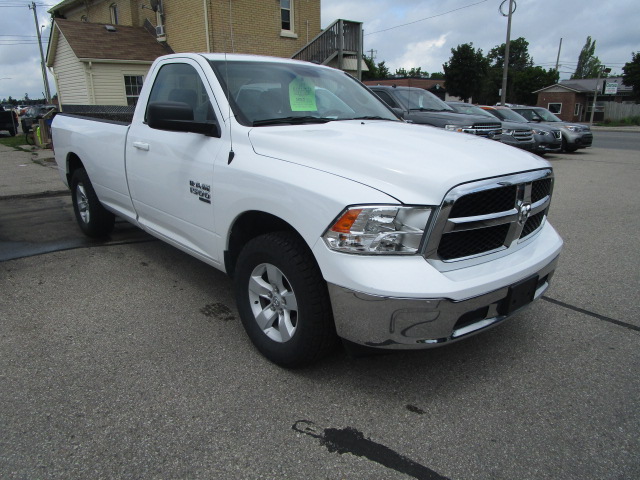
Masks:
[[[291,58],[329,65],[362,77],[367,66],[362,59],[362,22],[336,20]]]

